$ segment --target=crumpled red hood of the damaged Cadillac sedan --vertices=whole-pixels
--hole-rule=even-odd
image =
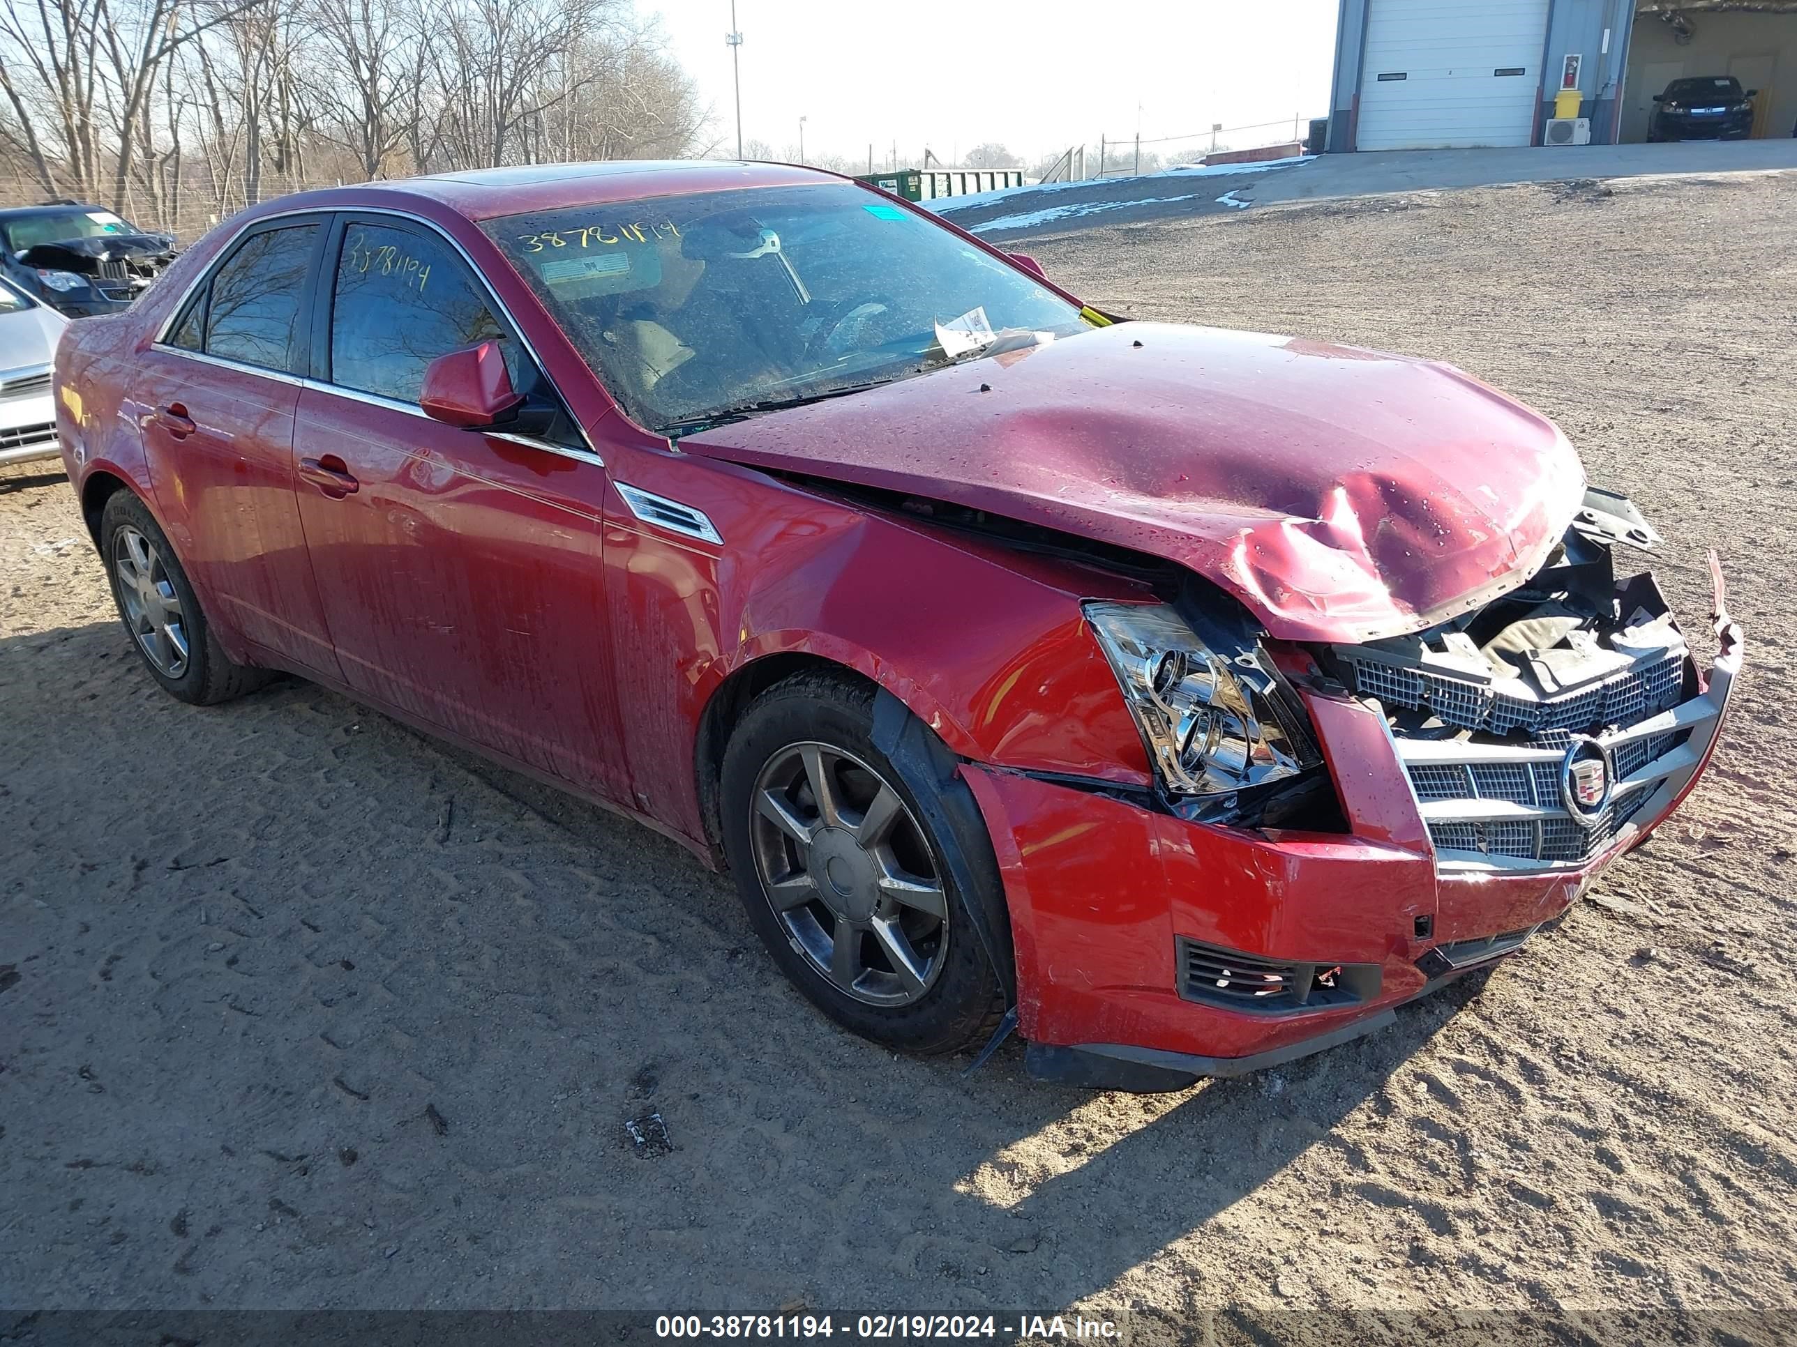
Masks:
[[[1432,627],[1527,578],[1585,474],[1447,365],[1118,323],[679,442],[1163,557],[1296,641]]]

